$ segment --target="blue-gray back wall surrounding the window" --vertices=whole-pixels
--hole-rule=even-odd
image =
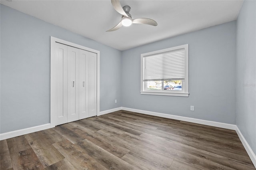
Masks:
[[[140,54],[186,43],[189,97],[140,95]],[[122,106],[235,124],[235,72],[235,21],[122,51]]]

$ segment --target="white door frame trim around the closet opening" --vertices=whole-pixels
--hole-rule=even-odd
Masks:
[[[100,115],[100,51],[50,36],[50,126],[51,128],[56,126],[56,114],[54,114],[54,110],[56,110],[56,101],[54,99],[58,95],[57,91],[54,90],[54,87],[56,86],[56,82],[54,80],[58,78],[56,77],[56,74],[55,74],[58,68],[54,65],[55,42],[80,48],[80,49],[97,54],[97,116]]]

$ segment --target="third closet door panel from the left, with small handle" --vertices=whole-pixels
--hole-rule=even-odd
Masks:
[[[88,51],[79,49],[79,119],[88,114]]]

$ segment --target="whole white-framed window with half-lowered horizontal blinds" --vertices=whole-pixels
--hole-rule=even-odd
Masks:
[[[140,94],[188,97],[188,44],[141,54]]]

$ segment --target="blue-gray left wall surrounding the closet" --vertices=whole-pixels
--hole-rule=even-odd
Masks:
[[[50,123],[50,36],[100,51],[100,111],[121,107],[120,51],[0,6],[0,133]]]

